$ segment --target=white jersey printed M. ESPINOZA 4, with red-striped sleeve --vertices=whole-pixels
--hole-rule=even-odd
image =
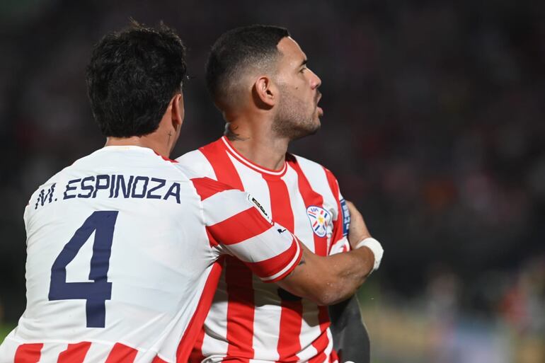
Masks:
[[[223,258],[260,280],[302,250],[246,192],[138,146],[107,146],[33,193],[27,306],[0,363],[187,362]]]

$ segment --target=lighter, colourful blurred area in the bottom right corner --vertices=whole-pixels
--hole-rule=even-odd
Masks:
[[[488,271],[475,286],[490,309],[467,309],[467,284],[436,269],[425,291],[403,299],[380,284],[360,292],[374,362],[545,362],[545,259]],[[403,302],[401,302],[403,301]]]

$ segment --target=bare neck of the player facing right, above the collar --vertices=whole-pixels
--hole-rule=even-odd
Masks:
[[[263,129],[234,127],[232,124],[227,124],[225,136],[239,154],[253,163],[272,170],[284,166],[288,139],[274,137]]]

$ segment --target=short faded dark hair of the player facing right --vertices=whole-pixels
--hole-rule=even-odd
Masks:
[[[285,28],[250,25],[229,30],[216,40],[206,64],[208,91],[217,103],[225,103],[231,90],[248,66],[268,67],[280,55],[282,38],[289,37]]]

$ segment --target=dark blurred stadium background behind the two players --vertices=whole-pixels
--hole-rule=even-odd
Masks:
[[[2,1],[0,341],[25,305],[25,204],[103,145],[84,67],[132,16],[189,48],[173,156],[222,134],[204,87],[221,33],[283,25],[302,45],[325,115],[292,151],[337,175],[386,250],[359,292],[374,363],[545,362],[544,4]]]

